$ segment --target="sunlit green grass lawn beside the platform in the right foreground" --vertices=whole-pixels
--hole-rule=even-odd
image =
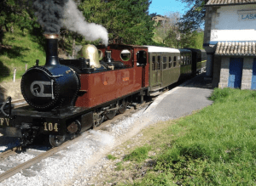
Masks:
[[[212,106],[162,131],[172,138],[152,147],[161,148],[156,163],[134,185],[256,184],[256,93],[216,88],[210,99]]]

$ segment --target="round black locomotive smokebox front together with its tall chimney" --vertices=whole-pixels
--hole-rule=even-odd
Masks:
[[[58,35],[46,37],[46,63],[33,66],[22,76],[21,93],[36,110],[61,109],[74,104],[80,89],[78,74],[59,62]]]

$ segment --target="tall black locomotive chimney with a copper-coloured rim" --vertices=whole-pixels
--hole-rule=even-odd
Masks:
[[[44,34],[46,38],[46,63],[49,65],[60,65],[58,57],[58,34]]]

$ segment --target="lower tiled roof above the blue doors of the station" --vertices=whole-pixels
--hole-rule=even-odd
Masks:
[[[256,56],[256,42],[218,42],[215,55]]]

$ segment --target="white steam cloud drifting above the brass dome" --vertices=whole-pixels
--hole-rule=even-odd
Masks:
[[[84,20],[84,15],[77,8],[73,0],[69,0],[64,8],[64,19],[62,24],[70,31],[76,31],[83,35],[86,40],[95,41],[101,38],[102,43],[108,46],[108,31],[102,25],[88,23]]]

